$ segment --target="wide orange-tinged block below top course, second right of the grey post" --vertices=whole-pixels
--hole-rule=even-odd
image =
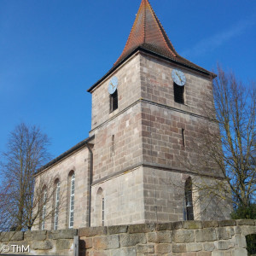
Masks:
[[[96,250],[116,249],[119,248],[119,235],[96,236],[92,244]]]

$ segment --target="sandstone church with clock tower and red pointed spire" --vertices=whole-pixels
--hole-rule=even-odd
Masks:
[[[213,122],[202,106],[213,104],[215,75],[177,54],[148,0],[113,62],[88,89],[89,137],[35,175],[35,190],[44,183],[42,198],[54,193],[33,229],[230,218],[229,207],[195,200],[195,180],[211,183],[223,174],[193,172],[182,160],[202,122]]]

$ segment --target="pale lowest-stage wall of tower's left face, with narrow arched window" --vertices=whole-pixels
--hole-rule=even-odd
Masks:
[[[91,226],[102,225],[97,191],[104,197],[105,225],[145,223],[143,168],[139,167],[92,186]],[[101,202],[100,202],[101,205]]]

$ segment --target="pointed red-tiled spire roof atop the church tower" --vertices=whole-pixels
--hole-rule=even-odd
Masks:
[[[207,70],[177,54],[177,51],[174,49],[148,0],[142,0],[136,19],[131,28],[129,38],[125,44],[125,49],[113,66],[118,65],[119,62],[123,61],[137,48],[147,49],[155,54],[172,59],[173,61],[207,72]]]

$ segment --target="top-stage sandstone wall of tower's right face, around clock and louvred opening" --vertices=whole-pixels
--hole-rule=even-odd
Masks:
[[[143,99],[197,114],[204,113],[202,107],[212,106],[212,80],[209,77],[151,55],[142,54],[140,61]],[[184,104],[174,102],[173,68],[182,69],[186,76]]]

